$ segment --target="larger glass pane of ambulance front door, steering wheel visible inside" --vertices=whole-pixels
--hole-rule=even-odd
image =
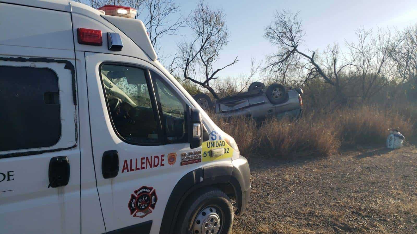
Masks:
[[[126,65],[100,67],[109,115],[119,137],[131,144],[160,144],[145,72]]]

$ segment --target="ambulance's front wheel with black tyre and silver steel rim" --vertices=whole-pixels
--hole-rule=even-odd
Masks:
[[[183,205],[178,221],[176,234],[229,234],[233,207],[223,191],[202,189]]]

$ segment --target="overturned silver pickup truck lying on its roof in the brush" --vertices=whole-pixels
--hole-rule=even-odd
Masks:
[[[302,93],[301,88],[287,90],[280,84],[272,84],[266,88],[263,83],[254,82],[247,92],[214,101],[203,93],[193,97],[204,110],[214,109],[222,117],[244,115],[264,118],[268,115],[288,115],[298,118],[303,109]]]

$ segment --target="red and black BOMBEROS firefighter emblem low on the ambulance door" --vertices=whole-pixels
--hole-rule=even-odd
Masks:
[[[131,194],[128,206],[133,217],[143,218],[152,213],[155,204],[158,201],[156,191],[153,187],[142,186]]]

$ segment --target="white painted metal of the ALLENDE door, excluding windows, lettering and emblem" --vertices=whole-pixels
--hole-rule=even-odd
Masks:
[[[155,67],[149,62],[144,62],[133,57],[120,55],[100,54],[85,52],[85,64],[88,80],[88,102],[90,103],[90,127],[91,138],[93,139],[93,157],[95,168],[101,167],[103,153],[108,150],[117,150],[119,157],[120,170],[117,177],[104,179],[100,170],[96,170],[97,188],[100,194],[103,217],[106,230],[112,231],[123,227],[147,222],[152,220],[152,234],[159,233],[166,203],[176,183],[186,173],[201,168],[201,162],[189,165],[180,165],[181,153],[188,153],[197,149],[190,149],[189,143],[166,144],[159,146],[133,145],[123,142],[114,132],[110,116],[106,106],[106,97],[100,80],[99,66],[103,62],[116,62],[131,65],[138,65],[151,69],[157,73]],[[162,75],[162,74],[160,74]],[[181,95],[181,93],[178,93]],[[188,103],[189,104],[189,103]],[[95,140],[96,139],[96,140]],[[167,155],[176,153],[177,160],[173,165],[169,165]],[[152,157],[154,155],[164,155],[164,165],[154,168],[141,169],[136,171],[124,172],[123,162],[128,164],[133,162],[133,169],[139,165],[136,159],[142,157]],[[161,157],[162,158],[162,157]],[[133,159],[133,161],[130,161]],[[162,159],[161,159],[162,160]],[[136,164],[136,165],[135,165]],[[161,164],[160,164],[161,165]],[[121,172],[120,172],[121,171]],[[128,202],[131,194],[142,186],[152,187],[157,194],[158,201],[151,214],[143,218],[132,217],[128,210]]]

